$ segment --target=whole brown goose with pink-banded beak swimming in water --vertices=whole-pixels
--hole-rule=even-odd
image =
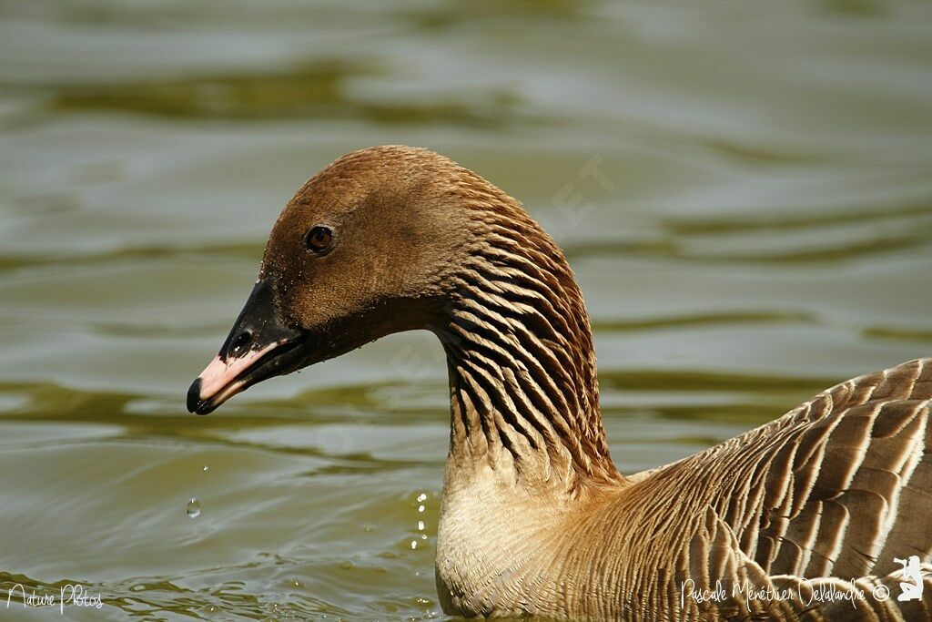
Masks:
[[[356,151],[297,191],[187,408],[414,329],[449,378],[447,614],[932,616],[932,359],[623,475],[566,258],[517,200],[426,149]]]

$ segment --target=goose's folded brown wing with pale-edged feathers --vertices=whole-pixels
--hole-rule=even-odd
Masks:
[[[884,575],[932,558],[932,359],[848,380],[678,463],[767,574]],[[698,475],[698,474],[697,474]]]

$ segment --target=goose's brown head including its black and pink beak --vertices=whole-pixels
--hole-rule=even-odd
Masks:
[[[187,394],[207,414],[274,376],[442,322],[454,273],[503,193],[425,149],[350,153],[301,187],[272,228],[253,292]]]

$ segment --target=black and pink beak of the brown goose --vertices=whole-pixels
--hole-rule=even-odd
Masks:
[[[187,409],[206,415],[256,382],[294,371],[305,344],[304,333],[281,317],[270,278],[261,278],[220,352],[188,389]]]

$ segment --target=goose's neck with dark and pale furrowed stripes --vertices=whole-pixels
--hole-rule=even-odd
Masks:
[[[555,243],[526,227],[487,232],[447,306],[451,456],[569,489],[617,480],[582,294]]]

